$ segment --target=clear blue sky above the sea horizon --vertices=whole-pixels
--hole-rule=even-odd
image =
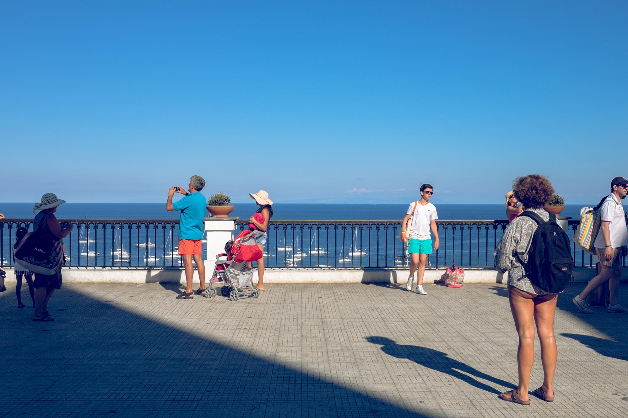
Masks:
[[[300,2],[299,2],[300,3]],[[1,201],[567,203],[628,177],[625,2],[5,2]],[[595,198],[590,198],[595,196]],[[593,202],[593,203],[595,203]]]

